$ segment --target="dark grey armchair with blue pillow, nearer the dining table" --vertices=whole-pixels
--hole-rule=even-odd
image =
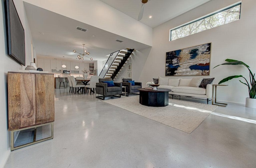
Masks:
[[[99,82],[96,83],[96,94],[101,94],[102,96],[96,96],[105,100],[107,96],[116,96],[121,97],[122,94],[122,83],[114,82],[112,79],[103,79],[100,78]]]

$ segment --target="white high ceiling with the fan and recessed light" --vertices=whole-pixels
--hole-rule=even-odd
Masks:
[[[100,0],[124,14],[138,19],[141,0]],[[154,28],[210,0],[148,0],[140,22]],[[152,16],[152,18],[149,18]]]

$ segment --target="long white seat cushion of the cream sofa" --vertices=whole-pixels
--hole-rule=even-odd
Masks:
[[[206,89],[190,86],[177,86],[172,88],[172,92],[188,93],[188,94],[206,94]]]

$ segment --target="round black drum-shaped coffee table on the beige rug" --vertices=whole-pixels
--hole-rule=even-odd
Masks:
[[[169,92],[170,89],[145,89],[139,88],[140,90],[140,104],[145,106],[163,107],[169,104]]]

